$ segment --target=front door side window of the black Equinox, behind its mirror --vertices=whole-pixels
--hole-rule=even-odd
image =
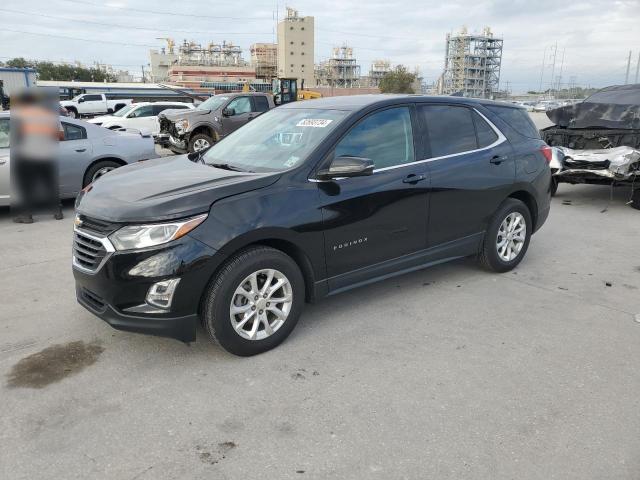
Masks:
[[[413,162],[409,109],[389,108],[365,117],[340,140],[335,156],[369,158],[376,169]]]

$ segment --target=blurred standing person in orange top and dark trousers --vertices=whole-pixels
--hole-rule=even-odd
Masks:
[[[63,135],[57,97],[31,88],[11,99],[11,175],[13,221],[33,223],[33,213],[45,210],[63,218],[57,150]]]

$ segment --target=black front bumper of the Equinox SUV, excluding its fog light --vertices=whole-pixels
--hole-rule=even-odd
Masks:
[[[113,328],[192,342],[200,298],[217,262],[215,250],[186,235],[145,250],[115,251],[95,272],[74,265],[78,303]],[[180,278],[171,308],[146,303],[149,288]]]

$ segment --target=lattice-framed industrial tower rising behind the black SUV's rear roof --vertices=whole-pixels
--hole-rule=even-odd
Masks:
[[[502,38],[485,27],[481,34],[447,34],[444,72],[440,81],[443,95],[492,98],[500,84]]]

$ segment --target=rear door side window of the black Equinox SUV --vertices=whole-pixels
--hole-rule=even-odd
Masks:
[[[432,157],[478,148],[470,109],[451,105],[423,105],[419,111],[427,124]]]

